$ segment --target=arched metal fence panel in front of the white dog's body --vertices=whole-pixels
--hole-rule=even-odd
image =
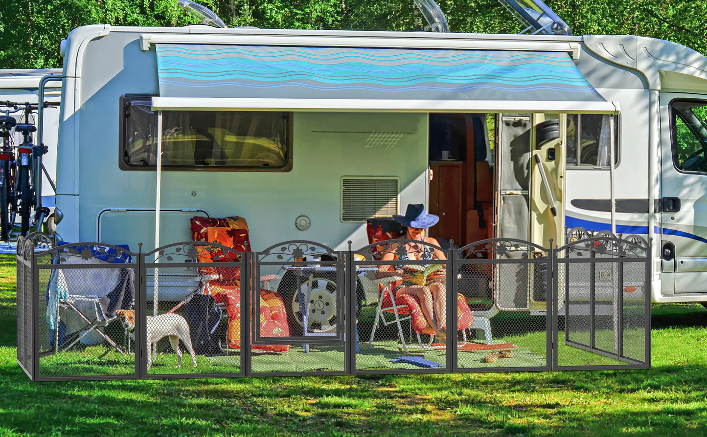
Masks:
[[[246,253],[184,241],[144,253],[141,260],[144,375],[244,376]]]

